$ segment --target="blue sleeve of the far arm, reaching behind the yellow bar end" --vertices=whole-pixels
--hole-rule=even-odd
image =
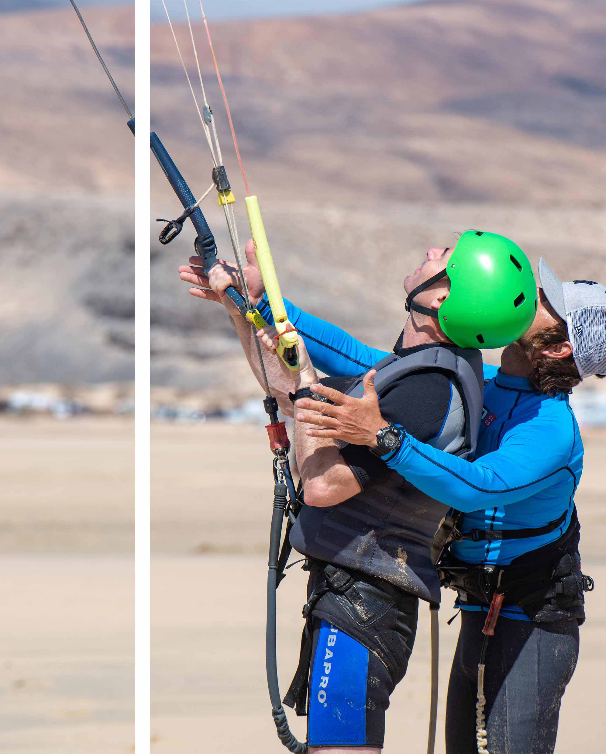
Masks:
[[[364,345],[344,329],[308,314],[287,299],[284,299],[284,305],[289,320],[305,340],[311,362],[330,377],[353,377],[367,372],[390,353]],[[274,323],[267,296],[263,296],[257,308],[266,322]]]

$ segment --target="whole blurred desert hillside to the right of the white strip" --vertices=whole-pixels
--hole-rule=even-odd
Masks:
[[[405,316],[402,278],[427,246],[452,245],[454,231],[509,234],[565,279],[581,271],[606,278],[602,11],[598,2],[449,0],[213,24],[284,295],[388,349]],[[195,84],[185,24],[176,34]],[[196,34],[241,197],[197,21]],[[207,146],[166,24],[152,27],[152,126],[201,195],[210,183]],[[177,214],[155,165],[152,197],[153,217],[169,207]],[[216,201],[204,207],[231,257]],[[171,247],[152,243],[153,382],[204,385],[217,403],[256,395],[225,313],[188,298],[176,277],[191,253],[186,232]]]

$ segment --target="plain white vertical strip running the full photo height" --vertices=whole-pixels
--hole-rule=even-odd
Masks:
[[[135,747],[150,750],[149,0],[135,0]]]

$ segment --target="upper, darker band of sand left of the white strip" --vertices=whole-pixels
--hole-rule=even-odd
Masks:
[[[0,420],[0,552],[133,553],[128,418]]]

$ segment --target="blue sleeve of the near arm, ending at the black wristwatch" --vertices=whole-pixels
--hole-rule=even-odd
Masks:
[[[516,425],[494,452],[465,461],[408,434],[387,466],[430,497],[464,513],[516,503],[556,482],[574,479],[574,437],[552,417]],[[547,446],[549,443],[549,446]]]

